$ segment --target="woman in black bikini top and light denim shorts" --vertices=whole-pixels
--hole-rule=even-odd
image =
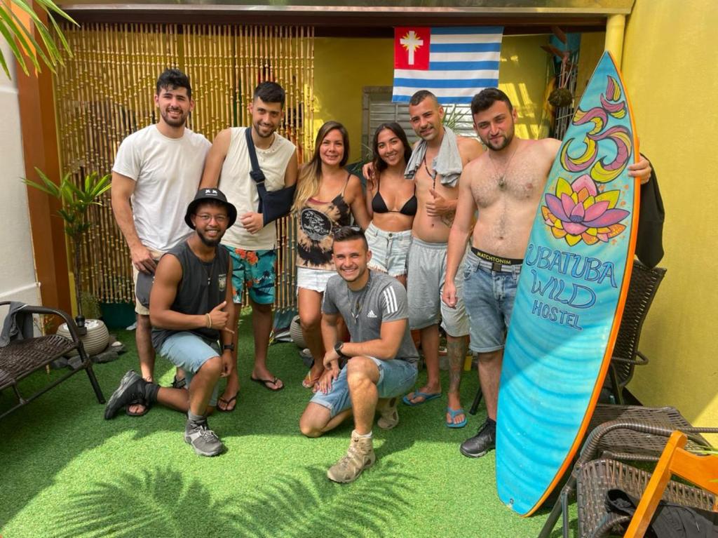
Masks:
[[[374,177],[367,179],[366,231],[372,259],[369,267],[396,277],[406,286],[406,252],[416,215],[416,185],[404,179],[411,146],[404,129],[389,122],[378,126],[373,139]]]

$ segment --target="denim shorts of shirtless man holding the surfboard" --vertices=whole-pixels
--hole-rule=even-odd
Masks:
[[[521,264],[493,271],[489,261],[472,251],[467,252],[465,260],[464,304],[471,320],[471,351],[497,351],[506,339]]]

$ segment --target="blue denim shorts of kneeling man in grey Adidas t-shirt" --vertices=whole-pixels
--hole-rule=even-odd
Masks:
[[[416,374],[418,373],[415,364],[398,358],[391,361],[381,361],[374,357],[368,358],[374,361],[379,368],[379,381],[376,384],[376,390],[380,398],[401,396],[414,387]],[[352,407],[346,366],[342,368],[339,377],[332,383],[332,389],[327,394],[322,391],[315,392],[310,402],[320,404],[322,407],[329,409],[331,417],[335,417],[337,413]]]

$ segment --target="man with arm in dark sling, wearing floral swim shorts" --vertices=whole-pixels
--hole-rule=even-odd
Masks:
[[[284,386],[266,365],[276,277],[276,225],[274,221],[266,222],[265,215],[258,212],[259,194],[256,182],[249,175],[252,167],[246,130],[251,129],[251,139],[259,167],[264,172],[266,190],[276,191],[295,185],[297,148],[276,133],[284,116],[283,110],[284,90],[281,86],[274,82],[258,85],[249,105],[251,127],[232,127],[216,136],[207,156],[200,185],[219,187],[238,210],[237,222],[227,230],[222,241],[234,265],[233,326],[236,327],[241,312],[241,297],[246,286],[252,307],[254,332],[254,368],[250,379],[272,391],[278,391]],[[289,207],[286,211],[289,212]],[[235,335],[235,348],[236,338]],[[237,369],[234,368],[228,376],[227,386],[224,394],[220,396],[217,409],[233,411],[238,391],[239,379]]]

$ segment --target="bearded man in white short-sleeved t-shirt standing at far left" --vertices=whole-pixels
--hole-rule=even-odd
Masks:
[[[127,136],[112,168],[112,210],[130,249],[135,284],[139,272],[154,274],[159,256],[190,235],[185,210],[197,193],[211,145],[185,127],[195,108],[185,73],[168,69],[159,75],[154,103],[159,121]],[[142,377],[153,381],[149,310],[137,301],[135,312]],[[140,416],[147,409],[133,404],[127,414]]]

